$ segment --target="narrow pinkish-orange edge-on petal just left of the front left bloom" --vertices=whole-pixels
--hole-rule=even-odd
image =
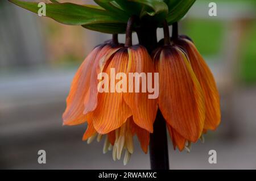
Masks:
[[[91,67],[92,72],[90,73],[90,90],[88,99],[84,100],[84,114],[95,110],[98,102],[98,74],[102,72],[109,58],[117,52],[120,48],[113,48],[112,45],[105,45],[100,52],[98,52],[93,65]]]

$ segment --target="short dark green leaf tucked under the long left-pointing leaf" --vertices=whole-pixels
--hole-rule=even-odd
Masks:
[[[125,23],[97,23],[97,24],[88,24],[83,25],[82,27],[89,30],[98,31],[102,33],[125,33],[126,24]]]

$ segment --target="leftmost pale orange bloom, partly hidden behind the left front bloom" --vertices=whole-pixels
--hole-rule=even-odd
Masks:
[[[98,45],[85,58],[71,85],[67,98],[67,108],[63,114],[64,125],[77,125],[85,123],[84,102],[88,100],[90,94],[90,83],[94,75],[101,69],[99,63],[102,57],[119,49],[121,45],[115,45],[112,42],[106,42]],[[97,77],[96,77],[97,79]],[[93,87],[95,88],[95,87]],[[97,87],[96,87],[97,88]]]

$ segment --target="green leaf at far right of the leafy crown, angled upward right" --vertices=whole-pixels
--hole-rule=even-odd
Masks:
[[[187,14],[188,10],[191,8],[193,3],[196,0],[169,0],[166,1],[168,3],[169,12],[167,15],[168,24],[172,24],[174,22],[179,21],[185,14]]]

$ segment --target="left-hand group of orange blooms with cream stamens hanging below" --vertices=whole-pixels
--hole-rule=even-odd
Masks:
[[[111,77],[113,69],[115,73],[125,73],[127,77],[129,73],[155,72],[150,55],[146,48],[140,45],[123,47],[107,43],[96,47],[86,57],[73,79],[63,120],[65,125],[76,125],[87,121],[88,127],[83,140],[88,140],[88,143],[97,135],[97,140],[100,141],[106,134],[104,153],[113,146],[115,160],[120,159],[122,151],[126,150],[124,158],[126,165],[133,153],[135,134],[141,142],[143,151],[147,153],[149,133],[153,131],[157,111],[157,100],[148,99],[148,91],[113,92],[113,87],[110,86],[108,91],[99,92],[98,86],[102,86],[100,82],[104,81],[111,85],[112,79],[98,79],[98,75],[106,73]],[[118,81],[114,80],[115,86]],[[142,82],[138,83],[141,90]],[[127,89],[130,89],[131,85],[127,85]],[[106,89],[105,86],[102,87]],[[134,89],[135,84],[132,86]]]

